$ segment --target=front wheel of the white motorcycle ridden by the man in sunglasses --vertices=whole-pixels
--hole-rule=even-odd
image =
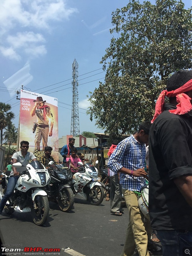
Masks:
[[[33,222],[42,226],[49,217],[49,202],[46,196],[38,195],[35,197],[34,203],[36,204],[36,209],[31,201],[31,216],[33,218]]]

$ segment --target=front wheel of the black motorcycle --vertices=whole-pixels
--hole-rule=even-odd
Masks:
[[[62,191],[62,198],[60,198],[60,194],[58,195],[58,204],[60,209],[63,212],[69,212],[73,208],[74,204],[74,195],[71,188],[64,188]]]

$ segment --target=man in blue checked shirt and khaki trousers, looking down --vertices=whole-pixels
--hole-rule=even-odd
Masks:
[[[144,215],[138,206],[138,193],[146,186],[145,143],[148,143],[150,126],[150,122],[140,124],[138,132],[122,140],[108,161],[108,167],[115,173],[120,173],[120,184],[129,211],[129,224],[122,256],[132,256],[135,246],[140,256],[149,255],[146,229],[148,232],[152,230],[150,221],[148,227],[144,226]]]

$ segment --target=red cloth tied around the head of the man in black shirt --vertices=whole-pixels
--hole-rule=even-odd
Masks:
[[[169,110],[170,113],[173,113],[175,115],[183,115],[188,113],[192,109],[192,105],[190,102],[191,98],[184,92],[189,92],[191,90],[192,90],[192,79],[174,91],[171,91],[171,92],[168,92],[167,90],[162,91],[156,101],[155,115],[153,116],[151,123],[153,123],[156,117],[163,112],[165,96],[169,98],[176,97],[176,100],[178,102],[176,106],[177,108]]]

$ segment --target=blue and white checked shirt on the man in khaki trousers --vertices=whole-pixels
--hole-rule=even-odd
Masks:
[[[136,171],[139,168],[146,167],[145,155],[145,144],[140,144],[139,141],[131,135],[119,142],[109,158],[108,167],[115,173],[122,167]],[[146,186],[144,177],[133,177],[122,172],[120,172],[120,184],[122,188],[139,192],[142,187]]]

